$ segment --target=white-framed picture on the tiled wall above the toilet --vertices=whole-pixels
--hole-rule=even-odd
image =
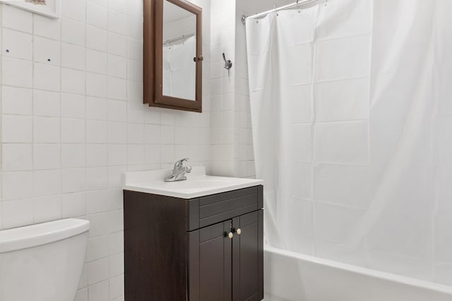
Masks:
[[[61,14],[61,0],[0,0],[1,3],[54,19]]]

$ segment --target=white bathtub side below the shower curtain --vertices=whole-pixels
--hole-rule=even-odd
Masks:
[[[452,287],[273,247],[264,251],[264,301],[452,301]]]

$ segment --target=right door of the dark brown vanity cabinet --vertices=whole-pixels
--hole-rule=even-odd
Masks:
[[[263,211],[232,219],[232,300],[263,299]]]

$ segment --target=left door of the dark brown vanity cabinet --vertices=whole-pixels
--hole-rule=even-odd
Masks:
[[[189,233],[189,300],[232,300],[232,221]]]

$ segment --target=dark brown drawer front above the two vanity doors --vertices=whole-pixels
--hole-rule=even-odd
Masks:
[[[234,216],[261,209],[262,186],[254,186],[199,198],[199,226],[212,225]]]

